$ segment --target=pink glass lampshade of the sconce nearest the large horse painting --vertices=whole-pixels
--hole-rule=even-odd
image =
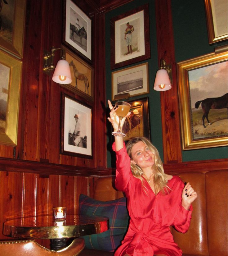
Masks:
[[[155,81],[154,81],[154,90],[155,91],[167,91],[172,88],[168,72],[165,69],[159,69],[157,71]]]

